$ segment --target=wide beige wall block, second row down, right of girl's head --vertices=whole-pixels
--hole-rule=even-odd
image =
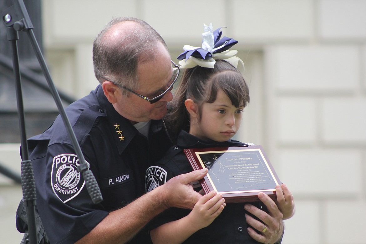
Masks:
[[[276,87],[289,94],[352,93],[360,80],[358,46],[280,46]]]

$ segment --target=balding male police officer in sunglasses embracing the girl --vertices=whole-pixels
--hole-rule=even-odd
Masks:
[[[28,140],[37,210],[50,243],[150,243],[147,222],[169,207],[192,209],[201,195],[189,183],[207,173],[182,174],[143,195],[147,167],[172,144],[161,119],[179,68],[163,38],[135,18],[101,31],[93,63],[100,85],[66,112],[104,200],[91,201],[58,116]]]

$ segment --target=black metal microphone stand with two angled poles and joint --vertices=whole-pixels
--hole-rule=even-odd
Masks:
[[[102,194],[100,192],[100,188],[98,183],[89,169],[89,166],[86,164],[84,155],[82,154],[80,145],[76,139],[75,133],[72,129],[70,121],[66,115],[65,109],[63,108],[59,93],[53,84],[51,75],[48,71],[46,62],[43,58],[40,47],[38,46],[36,37],[33,33],[33,25],[30,21],[28,12],[23,3],[23,0],[12,0],[13,5],[6,9],[2,13],[2,20],[4,25],[7,27],[7,37],[8,41],[11,42],[12,48],[12,56],[13,56],[13,68],[14,68],[14,79],[15,79],[15,88],[16,88],[16,99],[18,106],[18,117],[19,117],[19,128],[20,128],[20,139],[21,139],[21,155],[22,155],[22,163],[21,163],[21,178],[22,178],[22,191],[23,198],[25,201],[26,209],[27,209],[27,224],[29,231],[29,239],[31,244],[36,244],[37,242],[37,234],[36,234],[36,187],[34,183],[34,174],[31,161],[29,160],[28,155],[28,143],[26,137],[25,130],[25,115],[23,108],[23,95],[22,95],[22,87],[21,87],[21,77],[20,77],[20,69],[19,69],[19,58],[18,58],[18,46],[17,40],[19,40],[18,31],[26,31],[29,37],[29,40],[33,46],[34,52],[36,53],[38,62],[41,65],[42,71],[47,80],[49,89],[51,90],[51,94],[53,99],[56,102],[57,108],[60,112],[60,115],[63,119],[64,125],[66,127],[68,136],[71,139],[72,146],[74,147],[75,153],[79,158],[80,165],[78,166],[78,170],[82,173],[83,178],[85,180],[85,184],[91,200],[94,203],[100,203],[102,199]]]

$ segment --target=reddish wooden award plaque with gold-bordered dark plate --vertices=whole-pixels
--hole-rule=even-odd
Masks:
[[[184,149],[184,153],[194,170],[208,169],[199,181],[206,194],[215,190],[225,202],[253,202],[259,200],[259,192],[276,199],[281,181],[262,146]]]

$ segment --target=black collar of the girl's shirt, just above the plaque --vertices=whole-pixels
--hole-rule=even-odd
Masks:
[[[186,148],[227,147],[227,146],[245,147],[248,145],[232,139],[229,139],[225,142],[216,142],[214,140],[202,140],[197,136],[189,134],[187,131],[181,130],[178,135],[177,146],[186,149]]]

